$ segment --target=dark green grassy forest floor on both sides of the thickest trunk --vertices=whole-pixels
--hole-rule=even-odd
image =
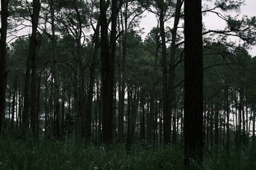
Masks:
[[[256,169],[255,150],[206,152],[203,169]],[[183,150],[137,144],[95,146],[56,141],[0,138],[0,169],[182,169]],[[191,165],[191,169],[200,169]]]

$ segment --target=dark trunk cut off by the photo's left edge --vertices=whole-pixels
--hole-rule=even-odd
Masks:
[[[0,135],[5,117],[6,97],[6,34],[8,18],[8,1],[1,0],[1,38],[0,38]]]

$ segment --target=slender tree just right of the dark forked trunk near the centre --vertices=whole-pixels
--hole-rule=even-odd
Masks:
[[[124,113],[125,113],[125,79],[127,67],[127,36],[128,32],[136,27],[140,18],[141,6],[136,1],[125,1],[120,8],[118,15],[118,33],[122,34],[119,38],[119,63],[118,63],[118,141],[124,142]]]

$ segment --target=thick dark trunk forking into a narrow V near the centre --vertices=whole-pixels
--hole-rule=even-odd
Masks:
[[[103,143],[113,142],[113,92],[115,73],[116,22],[118,15],[117,0],[111,5],[111,35],[108,42],[108,21],[106,2],[100,0],[100,33],[101,33],[101,69],[102,69],[102,140]],[[109,51],[110,49],[110,51]]]

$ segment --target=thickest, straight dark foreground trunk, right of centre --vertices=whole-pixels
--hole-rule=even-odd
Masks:
[[[184,166],[188,167],[190,159],[202,164],[204,154],[202,0],[184,3]]]

